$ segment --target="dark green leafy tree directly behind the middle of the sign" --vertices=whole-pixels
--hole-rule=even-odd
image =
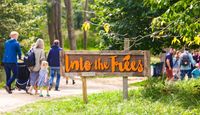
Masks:
[[[151,20],[161,14],[162,10],[151,12],[141,0],[99,0],[91,6],[95,12],[93,23],[98,24],[97,29],[102,37],[100,48],[122,50],[124,38],[130,38],[130,49],[161,51],[159,41],[152,43]],[[110,24],[110,32],[105,32],[103,25]]]

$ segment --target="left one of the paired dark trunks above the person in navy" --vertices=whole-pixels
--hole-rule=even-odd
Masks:
[[[48,23],[48,34],[49,34],[49,41],[50,45],[53,44],[54,41],[54,15],[53,15],[53,1],[47,0],[47,23]]]

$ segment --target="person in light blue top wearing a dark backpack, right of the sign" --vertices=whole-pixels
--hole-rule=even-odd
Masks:
[[[192,58],[192,54],[189,53],[189,49],[185,49],[185,51],[180,56],[179,61],[179,68],[180,68],[180,76],[181,80],[185,78],[185,75],[187,74],[188,78],[192,78],[191,72],[192,72],[192,65],[195,65],[195,61]]]

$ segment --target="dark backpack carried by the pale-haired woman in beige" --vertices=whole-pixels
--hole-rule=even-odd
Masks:
[[[35,53],[30,50],[24,57],[24,63],[27,67],[35,66]]]

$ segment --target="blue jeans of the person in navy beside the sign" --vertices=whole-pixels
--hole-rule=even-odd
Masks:
[[[54,76],[55,74],[57,73],[57,79],[56,79],[56,87],[55,89],[58,89],[59,88],[59,84],[60,84],[60,68],[51,68],[51,71],[50,71],[50,75],[51,75],[51,78],[50,78],[50,86],[53,85],[53,80],[54,80]]]

